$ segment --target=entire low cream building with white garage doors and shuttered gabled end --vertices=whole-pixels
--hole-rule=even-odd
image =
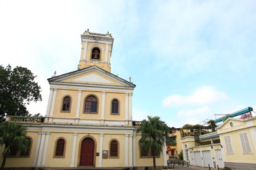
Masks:
[[[216,129],[181,138],[183,159],[195,166],[256,169],[256,117],[228,118]]]

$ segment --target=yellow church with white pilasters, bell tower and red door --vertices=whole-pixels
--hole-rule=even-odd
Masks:
[[[28,152],[6,159],[6,168],[153,166],[151,155],[139,149],[139,122],[132,120],[135,85],[111,73],[114,38],[85,30],[81,41],[78,70],[48,79],[45,118],[7,116],[26,126],[31,142]],[[165,145],[156,166],[167,166]]]

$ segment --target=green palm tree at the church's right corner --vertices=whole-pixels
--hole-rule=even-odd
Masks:
[[[139,148],[153,156],[154,170],[156,170],[156,155],[160,155],[170,129],[157,116],[153,118],[148,116],[148,119],[142,120],[142,124],[137,129],[137,132],[142,133]]]

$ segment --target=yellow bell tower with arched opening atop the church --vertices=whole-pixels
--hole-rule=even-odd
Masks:
[[[97,66],[111,72],[110,57],[114,38],[110,33],[90,33],[89,29],[81,35],[82,50],[78,69]]]

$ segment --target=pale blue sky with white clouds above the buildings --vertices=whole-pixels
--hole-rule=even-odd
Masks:
[[[47,79],[78,69],[80,35],[112,33],[112,73],[136,84],[133,120],[170,127],[256,111],[256,1],[0,0],[0,64],[27,67],[46,114]],[[255,113],[253,113],[255,115]]]

